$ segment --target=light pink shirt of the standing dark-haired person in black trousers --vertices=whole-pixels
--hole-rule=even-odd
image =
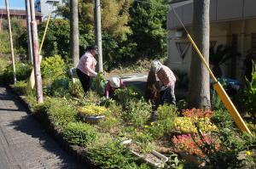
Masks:
[[[79,60],[78,69],[81,70],[85,75],[96,76],[96,59],[90,52],[86,52]]]

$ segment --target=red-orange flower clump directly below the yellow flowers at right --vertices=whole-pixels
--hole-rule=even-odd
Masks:
[[[219,149],[219,144],[216,138],[205,133],[202,134],[202,138],[198,134],[174,136],[172,138],[172,143],[175,145],[176,151],[185,151],[189,153],[189,155],[198,155],[199,157],[205,157],[201,150],[204,144],[212,145],[214,150]]]

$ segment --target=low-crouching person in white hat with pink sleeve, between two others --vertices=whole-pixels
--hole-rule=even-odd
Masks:
[[[114,91],[118,89],[119,87],[125,88],[125,82],[123,82],[118,77],[112,77],[108,80],[107,86],[106,86],[106,97],[113,98]]]

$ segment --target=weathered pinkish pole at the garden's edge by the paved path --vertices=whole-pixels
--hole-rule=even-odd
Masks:
[[[36,81],[36,91],[37,91],[37,101],[38,104],[43,103],[43,89],[42,89],[42,77],[40,70],[40,59],[38,54],[38,25],[35,17],[35,8],[34,1],[30,0],[30,9],[31,9],[31,27],[32,27],[32,54],[33,54],[33,63],[35,70],[35,81]]]

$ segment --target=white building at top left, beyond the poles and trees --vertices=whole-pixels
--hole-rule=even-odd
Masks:
[[[47,20],[49,14],[52,17],[58,17],[55,10],[61,4],[63,4],[63,0],[36,0],[35,9],[42,14],[42,20]]]

